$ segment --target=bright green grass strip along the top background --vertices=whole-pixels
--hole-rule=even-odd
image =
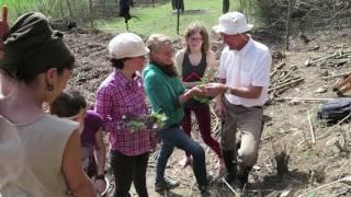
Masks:
[[[101,0],[93,0],[99,3]],[[137,2],[137,0],[135,0]],[[253,13],[256,0],[230,0],[229,11],[241,11],[249,14]],[[80,26],[90,27],[89,0],[0,0],[9,8],[10,23],[19,15],[29,11],[41,11],[44,14],[55,18],[73,18]],[[107,1],[105,1],[107,2]],[[177,37],[177,12],[171,8],[171,1],[159,1],[155,7],[134,7],[131,14],[136,16],[128,21],[128,30],[140,35],[151,33],[163,33],[171,37]],[[67,4],[70,4],[70,10]],[[98,4],[99,5],[99,4]],[[215,25],[222,15],[222,0],[185,0],[185,12],[180,16],[180,35],[185,27],[193,22],[204,24],[208,30]],[[99,8],[101,9],[101,8]],[[111,9],[111,8],[110,8]],[[112,8],[116,9],[116,8]],[[97,14],[98,7],[93,8]],[[110,33],[126,31],[123,18],[98,18],[93,15],[93,26]],[[115,14],[117,15],[117,13]],[[82,20],[86,19],[86,20]],[[81,20],[81,21],[80,21]],[[249,16],[251,23],[256,23]]]

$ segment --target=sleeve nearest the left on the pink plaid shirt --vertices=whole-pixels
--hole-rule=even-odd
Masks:
[[[99,89],[97,93],[95,112],[102,116],[102,126],[107,132],[115,129],[115,125],[111,118],[113,105],[111,91],[109,91],[106,86]]]

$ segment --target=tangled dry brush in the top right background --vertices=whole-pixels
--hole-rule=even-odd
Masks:
[[[258,0],[269,28],[285,30],[288,4],[290,0]],[[292,0],[291,19],[299,31],[350,26],[350,9],[349,0]]]

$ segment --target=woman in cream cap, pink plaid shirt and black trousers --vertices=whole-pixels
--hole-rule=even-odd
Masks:
[[[114,197],[129,196],[132,182],[138,196],[145,197],[146,169],[156,135],[147,129],[132,131],[122,123],[124,117],[143,117],[148,113],[139,71],[149,49],[138,35],[123,33],[110,42],[109,53],[114,71],[98,90],[95,111],[109,132]]]

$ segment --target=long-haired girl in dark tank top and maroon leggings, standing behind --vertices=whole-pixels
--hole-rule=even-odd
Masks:
[[[202,84],[202,78],[211,80],[215,71],[215,53],[210,48],[208,33],[201,24],[190,24],[185,31],[184,48],[176,55],[176,66],[182,78],[183,84],[191,89]],[[218,155],[216,167],[224,167],[220,157],[219,143],[211,136],[211,113],[207,103],[192,99],[184,104],[184,119],[182,126],[188,135],[191,135],[191,113],[195,114],[199,130],[204,142]],[[191,164],[189,153],[180,162],[182,167]]]

